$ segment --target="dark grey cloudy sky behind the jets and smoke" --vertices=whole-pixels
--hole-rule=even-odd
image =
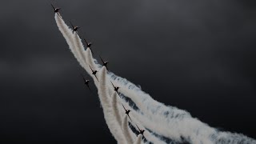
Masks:
[[[115,142],[50,2],[115,74],[210,126],[256,138],[253,0],[9,0],[0,2],[0,142]]]

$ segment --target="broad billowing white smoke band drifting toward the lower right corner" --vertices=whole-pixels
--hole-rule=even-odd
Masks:
[[[142,125],[146,128],[176,142],[182,142],[182,138],[186,138],[191,143],[218,142],[218,137],[213,138],[212,136],[218,135],[218,130],[210,128],[210,126],[198,121],[196,118],[192,118],[184,110],[178,110],[173,106],[164,106],[162,103],[154,101],[148,94],[142,92],[137,86],[126,81],[126,79],[117,77],[114,74],[110,75],[110,77],[115,85],[118,84],[122,87],[120,89],[122,94],[131,98],[136,106],[138,106],[145,117],[138,118],[138,120],[141,120]],[[242,134],[234,135],[237,137],[238,143],[256,143],[254,139],[247,138]]]

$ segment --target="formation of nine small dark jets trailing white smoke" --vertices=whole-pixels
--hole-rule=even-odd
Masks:
[[[62,18],[61,14],[60,14],[60,12],[59,12],[59,10],[61,10],[61,8],[54,7],[53,4],[51,4],[51,6],[52,6],[53,9],[54,9],[54,13],[55,13],[55,14],[58,14],[58,16],[59,16],[60,18]],[[74,34],[74,32],[76,32],[76,33],[78,34],[78,29],[79,29],[80,27],[79,27],[79,26],[74,26],[74,25],[72,24],[72,22],[70,22],[70,25],[72,26],[72,32],[73,32],[73,34]],[[79,34],[78,34],[78,35],[79,35]],[[92,42],[87,42],[87,41],[86,41],[86,38],[83,38],[83,39],[84,39],[84,41],[86,42],[87,48],[89,48],[90,51],[91,51],[91,53],[94,54],[93,51],[91,50],[91,46],[92,46],[93,43],[92,43]],[[108,67],[107,67],[107,64],[108,64],[109,62],[104,61],[101,56],[99,56],[99,57],[100,57],[100,59],[101,59],[101,61],[102,61],[102,66],[106,66],[106,70],[109,71],[109,70],[108,70]],[[90,66],[90,65],[89,65],[89,66]],[[98,70],[93,70],[93,69],[91,68],[91,66],[90,66],[90,70],[92,71],[92,74],[94,75],[94,77],[98,80],[98,77],[97,77],[97,75],[96,75],[96,74],[98,73]],[[92,90],[90,89],[90,85],[89,85],[90,80],[84,78],[84,76],[83,76],[82,74],[81,74],[81,76],[82,76],[83,81],[84,81],[84,84],[87,86],[88,90],[92,91]],[[99,82],[99,80],[98,80],[98,82]],[[111,81],[110,81],[110,82],[111,82]],[[118,94],[118,96],[120,97],[120,93],[118,92],[118,90],[119,90],[120,87],[114,86],[113,82],[111,82],[111,84],[112,84],[112,86],[114,87],[113,90],[114,90],[114,91]],[[121,103],[121,104],[122,104],[122,103]],[[125,110],[125,114],[128,116],[128,118],[130,118],[130,115],[129,115],[129,114],[130,114],[131,110],[126,109],[126,107],[125,107],[123,104],[122,104],[122,107],[123,107],[123,109]],[[130,118],[130,122],[133,122],[131,118]],[[138,137],[139,134],[142,134],[142,138],[146,139],[145,136],[144,136],[145,130],[140,129],[137,124],[135,124],[135,125],[136,125],[137,128],[138,128],[137,137]],[[136,128],[135,128],[135,129],[136,129]]]

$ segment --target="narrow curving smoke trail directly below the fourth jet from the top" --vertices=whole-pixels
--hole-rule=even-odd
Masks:
[[[100,101],[102,102],[102,108],[104,112],[104,117],[106,119],[106,124],[110,129],[110,132],[114,135],[114,138],[118,143],[125,143],[125,138],[120,130],[118,130],[117,122],[114,121],[114,115],[112,114],[110,101],[108,99],[108,89],[106,87],[106,67],[102,67],[102,70],[99,71],[99,86],[98,86],[98,95]]]

